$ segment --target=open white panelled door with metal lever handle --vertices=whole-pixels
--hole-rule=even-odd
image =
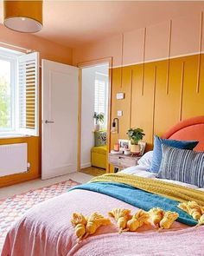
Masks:
[[[41,179],[77,170],[79,69],[42,60]]]

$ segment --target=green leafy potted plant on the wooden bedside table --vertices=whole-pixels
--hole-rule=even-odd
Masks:
[[[140,154],[140,145],[139,141],[143,140],[143,129],[141,128],[130,128],[127,132],[129,139],[131,140],[131,153]]]

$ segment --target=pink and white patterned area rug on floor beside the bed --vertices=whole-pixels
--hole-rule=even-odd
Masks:
[[[23,194],[16,194],[4,200],[0,200],[0,254],[7,232],[23,213],[36,204],[67,192],[69,187],[80,183],[72,180],[61,181],[48,187],[30,190]]]

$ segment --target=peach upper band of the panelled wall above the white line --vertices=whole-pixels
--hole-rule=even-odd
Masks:
[[[181,56],[198,53],[200,43],[201,15],[182,16],[172,20],[169,48],[169,23],[154,24],[146,28],[144,60],[151,61],[169,56]],[[204,35],[204,26],[202,26]],[[204,37],[204,36],[203,36]],[[124,42],[124,47],[122,47]],[[124,32],[99,42],[86,44],[73,49],[73,64],[104,57],[113,57],[113,66],[143,62],[144,28]],[[202,50],[204,39],[202,40]],[[122,58],[122,52],[123,58]]]

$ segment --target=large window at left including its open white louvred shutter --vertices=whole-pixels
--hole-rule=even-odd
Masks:
[[[0,137],[38,135],[38,59],[0,48]]]

